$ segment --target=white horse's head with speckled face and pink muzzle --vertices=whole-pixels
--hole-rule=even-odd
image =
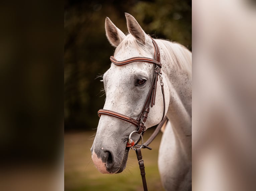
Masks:
[[[107,17],[105,20],[106,36],[110,44],[116,47],[114,58],[118,61],[132,57],[154,58],[152,39],[142,30],[133,16],[126,13],[129,34],[125,35]],[[153,84],[155,65],[146,62],[133,62],[125,66],[111,67],[103,76],[106,110],[116,111],[136,119],[141,112],[147,95]],[[165,79],[163,79],[165,82]],[[166,86],[168,89],[168,87]],[[168,93],[169,91],[167,91]],[[166,105],[169,96],[166,96]],[[150,108],[145,127],[158,124],[163,116],[163,98],[160,84],[157,84],[154,107]],[[165,113],[164,113],[165,114]],[[92,159],[101,173],[120,173],[126,167],[129,147],[126,142],[129,134],[136,127],[127,121],[108,115],[102,115],[91,148]],[[132,138],[138,140],[139,134]]]

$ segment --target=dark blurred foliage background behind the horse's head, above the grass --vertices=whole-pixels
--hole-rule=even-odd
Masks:
[[[147,34],[176,41],[191,50],[191,0],[67,0],[64,7],[65,131],[97,127],[103,83],[114,52],[105,35],[105,18],[127,32],[124,13]]]

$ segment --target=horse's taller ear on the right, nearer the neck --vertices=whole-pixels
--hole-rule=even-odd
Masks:
[[[129,13],[125,13],[127,28],[132,36],[134,36],[137,41],[146,44],[148,38],[147,34],[143,31],[136,19],[131,16]]]

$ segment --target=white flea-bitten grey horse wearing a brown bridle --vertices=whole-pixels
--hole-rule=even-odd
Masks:
[[[125,13],[125,17],[126,35],[108,17],[105,19],[107,39],[116,49],[111,66],[103,75],[106,93],[103,110],[118,114],[114,117],[107,113],[101,115],[91,147],[92,160],[101,173],[115,174],[125,169],[130,150],[128,136],[138,129],[117,116],[136,119],[150,88],[154,87],[153,77],[158,66],[143,60],[154,58],[154,41],[159,47],[162,83],[156,84],[155,106],[150,106],[143,130],[157,125],[162,116],[168,118],[158,154],[161,182],[165,190],[191,190],[192,53],[176,42],[152,40],[132,15]],[[118,61],[134,57],[142,58],[142,61],[117,65]],[[161,93],[163,84],[164,97]],[[134,133],[132,137],[138,141],[141,134]]]

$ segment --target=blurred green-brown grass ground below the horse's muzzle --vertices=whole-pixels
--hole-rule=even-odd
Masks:
[[[148,129],[145,140],[154,129]],[[130,150],[126,169],[119,174],[101,174],[91,160],[90,148],[95,131],[65,133],[65,191],[142,191],[142,181],[136,154]],[[157,167],[160,132],[150,144],[152,150],[142,149],[148,190],[164,190]]]

